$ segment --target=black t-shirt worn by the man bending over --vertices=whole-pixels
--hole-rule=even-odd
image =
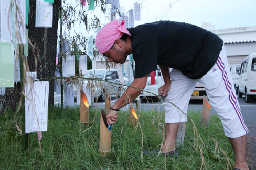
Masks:
[[[180,70],[191,79],[203,77],[216,63],[223,41],[214,33],[173,21],[129,28],[135,60],[135,78],[162,65]]]

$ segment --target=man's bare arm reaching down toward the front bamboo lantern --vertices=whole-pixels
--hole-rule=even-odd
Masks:
[[[140,95],[141,91],[137,90],[135,88],[132,88],[132,87],[144,89],[146,87],[147,77],[148,77],[148,75],[141,77],[141,78],[134,79],[133,83],[130,85],[131,87],[128,87],[126,89],[126,92],[121,96],[121,98],[119,98],[115,102],[115,104],[112,106],[112,108],[120,109],[120,108],[126,106],[127,104],[129,104],[134,99],[136,99]],[[127,95],[129,95],[129,96],[127,96]],[[117,116],[118,116],[118,111],[110,110],[109,113],[106,115],[106,120],[107,120],[108,124],[116,123]]]

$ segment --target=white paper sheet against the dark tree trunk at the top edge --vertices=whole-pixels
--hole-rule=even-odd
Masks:
[[[52,3],[36,0],[35,27],[52,27]]]

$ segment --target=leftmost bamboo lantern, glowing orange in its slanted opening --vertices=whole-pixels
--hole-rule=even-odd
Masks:
[[[89,102],[82,90],[80,95],[80,122],[84,125],[89,123]]]

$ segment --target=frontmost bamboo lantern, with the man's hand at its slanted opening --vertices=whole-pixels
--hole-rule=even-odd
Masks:
[[[111,151],[111,130],[106,123],[106,113],[103,109],[100,112],[100,136],[99,136],[99,154],[107,156]]]

